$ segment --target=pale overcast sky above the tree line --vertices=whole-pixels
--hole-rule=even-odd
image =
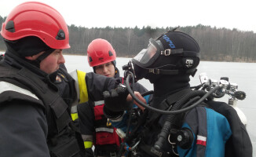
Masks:
[[[256,33],[256,0],[37,0],[57,9],[67,24],[82,27],[237,28]],[[0,15],[25,0],[0,2]]]

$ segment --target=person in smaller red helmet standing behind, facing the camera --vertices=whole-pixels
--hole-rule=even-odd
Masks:
[[[115,62],[115,49],[107,40],[97,38],[90,42],[87,58],[96,74],[109,78],[119,77],[119,69],[116,68]],[[139,83],[135,83],[135,90],[140,93],[148,91]],[[121,139],[112,123],[104,116],[103,107],[104,100],[94,102],[89,100],[84,104],[79,104],[79,127],[86,152],[92,152],[91,148],[94,144],[94,156],[114,157],[118,155]]]

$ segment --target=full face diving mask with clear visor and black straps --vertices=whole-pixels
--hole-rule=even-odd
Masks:
[[[155,75],[177,75],[183,71],[179,71],[178,68],[174,69],[163,69],[161,67],[153,68],[152,64],[160,56],[169,57],[169,56],[180,56],[180,57],[199,57],[199,53],[193,51],[184,51],[184,49],[164,49],[163,44],[160,40],[154,40],[153,38],[149,39],[149,44],[147,49],[142,49],[140,53],[137,54],[130,62],[123,66],[125,70],[125,75],[128,74],[127,69],[131,71],[134,75],[135,80],[143,79],[147,73],[153,73]],[[193,60],[185,59],[184,65],[193,64]],[[173,65],[174,67],[176,65]],[[188,67],[188,66],[187,66]],[[189,67],[188,67],[189,68]],[[185,70],[187,73],[192,73],[195,69]]]

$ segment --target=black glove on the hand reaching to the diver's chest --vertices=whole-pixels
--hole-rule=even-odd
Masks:
[[[126,86],[118,86],[116,89],[112,89],[109,91],[104,91],[104,106],[109,111],[125,111],[128,110],[132,104],[132,101],[126,101],[126,97],[129,92]]]

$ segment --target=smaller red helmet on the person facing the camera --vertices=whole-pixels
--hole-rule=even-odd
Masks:
[[[106,64],[114,61],[115,58],[115,49],[107,40],[97,38],[90,42],[87,49],[87,59],[90,67]]]

